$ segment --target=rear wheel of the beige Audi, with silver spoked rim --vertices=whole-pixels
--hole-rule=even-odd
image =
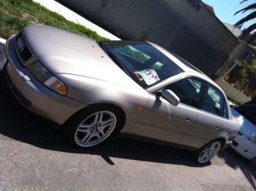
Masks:
[[[220,140],[214,140],[200,148],[195,155],[194,161],[198,164],[209,162],[221,150],[222,143]]]

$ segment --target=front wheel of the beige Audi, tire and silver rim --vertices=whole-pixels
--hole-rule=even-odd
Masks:
[[[69,143],[76,147],[91,147],[105,142],[122,128],[119,110],[113,105],[88,106],[64,124]]]

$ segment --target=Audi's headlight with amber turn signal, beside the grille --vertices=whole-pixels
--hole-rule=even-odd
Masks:
[[[40,61],[35,60],[28,66],[28,70],[38,79],[41,83],[44,83],[45,86],[50,88],[51,90],[66,95],[67,94],[67,87],[66,85],[52,75]]]

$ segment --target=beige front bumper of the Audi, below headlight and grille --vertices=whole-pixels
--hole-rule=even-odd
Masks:
[[[86,107],[84,103],[57,94],[38,81],[19,61],[14,47],[14,37],[6,41],[7,81],[13,94],[30,111],[63,124],[71,115]]]

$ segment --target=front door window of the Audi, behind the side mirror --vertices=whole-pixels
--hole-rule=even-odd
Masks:
[[[206,82],[204,80],[189,77],[171,83],[165,89],[174,92],[180,98],[181,103],[198,108],[205,84]]]

